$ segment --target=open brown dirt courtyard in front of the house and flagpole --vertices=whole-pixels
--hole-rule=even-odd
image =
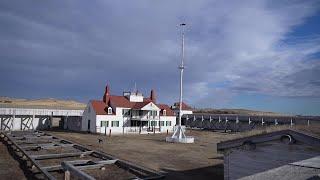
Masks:
[[[238,134],[189,130],[194,144],[165,142],[166,134],[115,135],[52,132],[49,133],[79,144],[104,151],[117,158],[133,162],[166,174],[168,179],[223,179],[223,155],[218,154],[218,142]],[[98,143],[98,138],[103,143]]]

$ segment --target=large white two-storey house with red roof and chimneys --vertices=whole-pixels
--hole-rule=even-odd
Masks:
[[[176,116],[168,105],[156,103],[153,90],[150,98],[138,92],[115,96],[107,86],[102,101],[89,101],[81,124],[82,131],[104,134],[172,132]]]

